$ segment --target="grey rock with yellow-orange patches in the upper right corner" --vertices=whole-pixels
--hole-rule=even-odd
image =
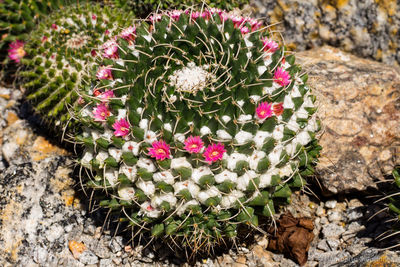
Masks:
[[[254,13],[275,24],[297,51],[335,45],[363,58],[400,62],[400,5],[394,0],[251,0]]]

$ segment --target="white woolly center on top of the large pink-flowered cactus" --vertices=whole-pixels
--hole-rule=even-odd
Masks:
[[[215,79],[215,75],[206,70],[208,67],[207,65],[199,67],[190,62],[169,76],[170,84],[175,86],[178,92],[195,94],[199,90],[202,91],[210,80]]]

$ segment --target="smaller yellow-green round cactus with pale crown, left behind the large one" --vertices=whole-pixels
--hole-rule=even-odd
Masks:
[[[33,107],[50,123],[64,127],[77,90],[89,82],[99,45],[110,39],[131,13],[93,4],[71,5],[51,14],[31,33],[21,63],[23,87]]]

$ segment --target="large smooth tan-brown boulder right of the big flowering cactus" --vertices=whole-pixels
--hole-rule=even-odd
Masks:
[[[399,70],[326,46],[297,58],[319,101],[325,194],[376,188],[400,164]]]

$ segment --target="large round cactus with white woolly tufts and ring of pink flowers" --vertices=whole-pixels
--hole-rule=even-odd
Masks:
[[[174,10],[104,46],[76,115],[84,188],[136,235],[208,251],[260,230],[313,173],[315,97],[261,26]]]

